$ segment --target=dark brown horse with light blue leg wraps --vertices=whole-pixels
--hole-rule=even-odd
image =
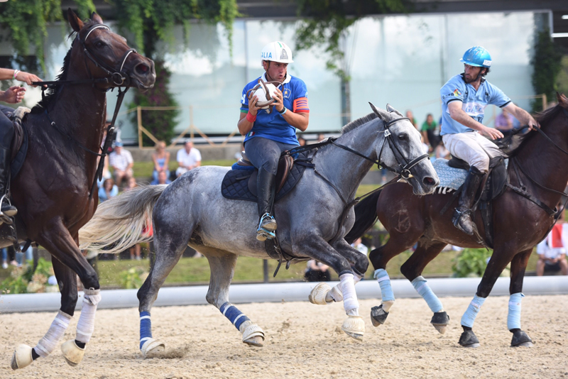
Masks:
[[[544,133],[530,132],[508,165],[510,184],[515,187],[524,185],[526,192],[545,205],[540,207],[510,188],[493,200],[493,256],[477,288],[476,297],[461,319],[464,333],[459,344],[462,346],[479,346],[471,327],[481,304],[509,263],[511,298],[508,329],[513,333],[511,345],[528,346],[532,342],[520,329],[523,277],[532,248],[545,237],[554,222],[550,209],[555,209],[559,203],[568,181],[568,99],[564,94],[558,94],[557,98],[557,106],[537,116]],[[515,165],[518,167],[516,171]],[[422,270],[448,243],[466,248],[483,248],[474,236],[468,236],[453,226],[451,211],[440,214],[449,199],[449,194],[415,196],[408,185],[395,184],[357,204],[356,222],[346,241],[354,241],[364,234],[377,216],[390,234],[388,242],[369,255],[376,270],[375,277],[381,285],[383,303],[371,311],[375,326],[383,324],[394,301],[386,264],[417,242],[416,250],[402,265],[400,272],[413,282],[417,292],[435,312],[432,324],[441,332],[445,330],[449,317],[422,278]],[[449,209],[456,205],[457,200]],[[549,207],[548,212],[546,207]],[[479,233],[484,236],[479,210],[475,220]]]

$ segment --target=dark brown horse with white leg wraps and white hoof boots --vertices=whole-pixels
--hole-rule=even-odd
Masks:
[[[31,239],[53,256],[53,270],[61,292],[61,308],[38,346],[19,345],[11,367],[22,368],[53,351],[77,304],[77,275],[85,290],[77,323],[77,339],[62,345],[67,363],[80,362],[94,329],[100,300],[99,279],[78,246],[79,229],[91,219],[97,192],[89,197],[103,138],[107,90],[113,87],[148,89],[155,82],[154,63],[111,33],[93,13],[83,23],[69,9],[76,33],[55,87],[24,119],[29,148],[19,174],[11,181],[20,241]],[[109,78],[104,81],[103,78]],[[94,80],[92,80],[94,79]],[[1,241],[8,246],[9,241]]]

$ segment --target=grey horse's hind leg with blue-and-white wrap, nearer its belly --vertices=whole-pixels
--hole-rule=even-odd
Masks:
[[[214,305],[229,319],[238,331],[243,334],[243,342],[250,346],[263,346],[264,331],[254,324],[249,317],[229,302],[229,285],[233,279],[236,265],[236,255],[224,253],[223,255],[208,256],[211,278],[207,291],[207,302]]]

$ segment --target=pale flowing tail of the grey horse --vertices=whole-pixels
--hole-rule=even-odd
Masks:
[[[101,203],[79,231],[79,248],[120,253],[136,243],[151,241],[152,210],[165,187],[136,187]]]

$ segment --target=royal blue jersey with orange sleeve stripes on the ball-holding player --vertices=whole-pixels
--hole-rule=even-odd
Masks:
[[[246,113],[249,111],[249,98],[246,97],[246,92],[258,84],[258,79],[254,79],[243,89],[241,95],[241,112]],[[262,76],[266,81],[266,75]],[[280,89],[284,98],[284,106],[288,111],[294,113],[310,113],[310,108],[307,106],[307,89],[306,84],[297,77],[286,75],[283,83],[283,88]],[[268,138],[273,141],[281,143],[289,143],[291,145],[298,145],[296,138],[296,128],[291,126],[284,117],[273,108],[273,111],[268,114],[268,109],[258,109],[256,114],[256,121],[254,121],[252,130],[246,134],[244,142],[254,137]]]

